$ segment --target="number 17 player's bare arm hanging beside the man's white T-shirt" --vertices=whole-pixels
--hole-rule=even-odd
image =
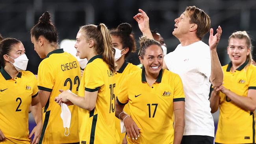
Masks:
[[[173,144],[180,144],[183,137],[183,131],[185,126],[185,119],[184,119],[185,102],[184,101],[173,102],[173,111],[175,115]]]

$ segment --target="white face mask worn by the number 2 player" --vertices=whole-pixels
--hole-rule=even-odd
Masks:
[[[8,55],[8,57],[10,57],[10,56]],[[14,63],[12,63],[12,64],[13,64],[13,66],[16,68],[16,70],[18,72],[26,70],[27,69],[27,65],[28,65],[28,57],[26,56],[26,54],[22,54],[19,57],[17,57],[16,59],[14,59]]]

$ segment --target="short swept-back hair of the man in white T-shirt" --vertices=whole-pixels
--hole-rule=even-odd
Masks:
[[[190,18],[190,24],[197,24],[197,37],[202,39],[204,35],[210,30],[210,17],[196,6],[188,6],[185,10],[186,15]]]

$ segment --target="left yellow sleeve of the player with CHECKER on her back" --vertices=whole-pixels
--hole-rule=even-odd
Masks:
[[[50,64],[42,61],[37,73],[38,89],[52,92],[54,86],[54,70]]]

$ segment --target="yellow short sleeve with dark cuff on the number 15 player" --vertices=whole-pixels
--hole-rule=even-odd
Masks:
[[[85,90],[95,92],[104,85],[104,78],[101,69],[95,63],[90,63],[85,67]]]

